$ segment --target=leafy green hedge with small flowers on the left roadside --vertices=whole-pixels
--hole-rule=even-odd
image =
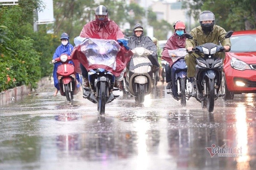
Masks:
[[[0,7],[0,92],[24,84],[36,88],[42,75],[52,72],[49,61],[59,45],[59,39],[57,45],[57,38],[46,34],[46,29],[33,31],[30,14],[40,0],[19,4]]]

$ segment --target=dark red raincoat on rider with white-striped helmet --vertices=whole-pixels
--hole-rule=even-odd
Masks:
[[[119,28],[119,26],[108,18],[106,15],[104,20],[99,20],[95,15],[96,20],[92,20],[89,23],[85,24],[80,37],[88,37],[88,38],[97,38],[97,39],[107,39],[107,40],[118,40],[124,38],[124,35]],[[116,55],[116,70],[109,70],[108,68],[104,68],[113,73],[116,77],[120,75],[123,69],[125,69],[128,61],[131,60],[131,56],[133,52],[131,50],[125,49],[124,46],[121,46],[121,50]],[[92,68],[88,68],[88,61],[84,54],[81,52],[80,46],[75,47],[73,49],[71,58],[75,65],[75,71],[81,74],[80,63],[87,69],[90,70]],[[79,58],[85,58],[84,60],[79,60]],[[96,68],[99,68],[95,65]]]

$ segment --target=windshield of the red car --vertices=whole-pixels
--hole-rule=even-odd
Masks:
[[[256,52],[256,35],[235,35],[230,41],[230,52]]]

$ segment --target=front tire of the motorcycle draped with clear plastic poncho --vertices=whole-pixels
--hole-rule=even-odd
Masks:
[[[106,105],[106,83],[105,81],[99,82],[99,101],[98,101],[98,111],[100,115],[105,114],[105,105]]]

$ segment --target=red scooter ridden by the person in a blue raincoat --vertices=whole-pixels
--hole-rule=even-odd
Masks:
[[[79,82],[76,80],[76,72],[74,71],[73,63],[69,63],[71,60],[70,55],[62,54],[60,57],[55,58],[53,63],[62,63],[57,67],[57,78],[60,87],[60,93],[66,96],[67,101],[73,100],[73,95],[79,92],[77,86]],[[50,64],[52,61],[50,62]]]

